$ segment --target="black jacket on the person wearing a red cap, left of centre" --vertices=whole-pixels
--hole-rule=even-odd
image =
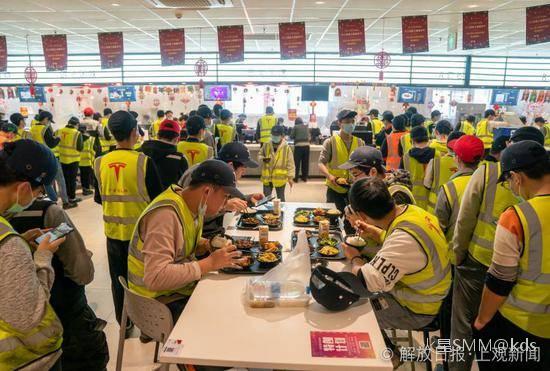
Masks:
[[[148,140],[141,145],[140,151],[149,156],[157,166],[164,189],[177,183],[189,167],[185,156],[173,144]]]

